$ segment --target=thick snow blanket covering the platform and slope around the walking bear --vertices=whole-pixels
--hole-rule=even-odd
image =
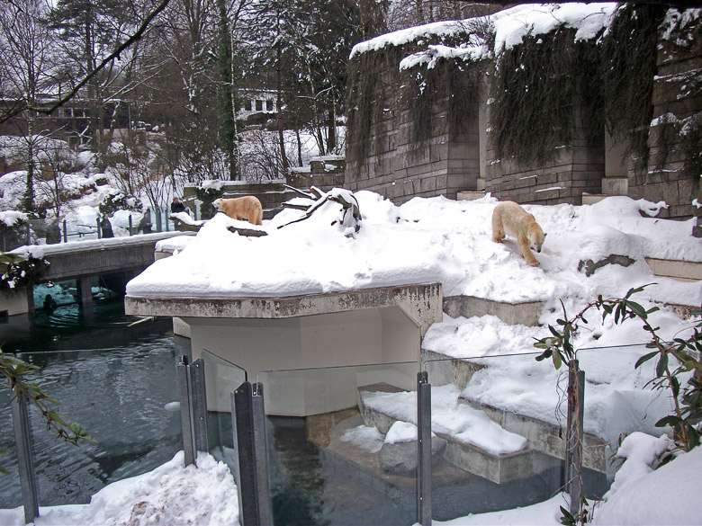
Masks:
[[[363,220],[355,237],[329,227],[341,205],[329,201],[310,218],[284,210],[247,237],[228,227],[251,227],[217,214],[176,257],[159,260],[130,281],[131,297],[285,297],[405,284],[441,282],[444,295],[507,302],[592,299],[624,295],[651,282],[641,298],[698,305],[700,283],[653,276],[645,257],[702,262],[702,244],[691,236],[694,219],[642,217],[662,203],[608,198],[591,206],[527,206],[547,233],[541,262],[531,267],[516,242],[491,241],[497,200],[413,199],[401,207],[373,192],[356,192]],[[286,226],[285,226],[286,225]],[[574,247],[577,247],[575,249]],[[241,258],[240,254],[248,254]],[[284,254],[285,264],[280,264]],[[578,271],[619,254],[635,263],[608,265],[590,277]]]

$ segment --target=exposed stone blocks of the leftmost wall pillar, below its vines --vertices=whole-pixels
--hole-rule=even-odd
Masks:
[[[382,93],[376,94],[376,112],[365,145],[347,136],[345,187],[378,192],[395,204],[411,198],[475,190],[480,176],[477,115],[454,118],[448,85],[430,108],[426,138],[417,138],[416,117],[401,97],[400,73],[385,73]],[[457,124],[459,123],[459,124]]]

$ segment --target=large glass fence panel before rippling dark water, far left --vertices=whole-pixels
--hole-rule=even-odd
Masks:
[[[59,400],[58,412],[92,440],[73,446],[49,432],[30,409],[33,459],[40,505],[85,504],[117,480],[157,468],[183,449],[178,414],[175,350],[19,353],[40,366],[32,381]],[[4,406],[3,413],[9,412]],[[12,426],[0,427],[0,443]],[[0,501],[21,499],[17,484],[0,488]]]

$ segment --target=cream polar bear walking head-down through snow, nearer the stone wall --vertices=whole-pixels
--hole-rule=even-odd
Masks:
[[[539,264],[531,252],[541,252],[546,235],[536,219],[514,201],[503,201],[492,212],[492,241],[502,243],[505,234],[517,237],[522,257],[532,266]]]

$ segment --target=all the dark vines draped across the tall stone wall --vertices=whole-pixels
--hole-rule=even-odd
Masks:
[[[670,25],[662,27],[666,13],[670,16],[667,6],[623,4],[607,31],[596,38],[575,40],[576,31],[562,26],[548,34],[527,36],[499,53],[491,65],[441,58],[428,67],[398,71],[402,58],[428,49],[428,39],[422,38],[362,53],[350,61],[349,158],[368,156],[373,137],[381,136],[374,134],[374,126],[387,111],[409,111],[410,138],[415,142],[433,136],[437,108],[446,109],[453,126],[460,125],[477,111],[477,88],[481,76],[489,74],[491,145],[498,159],[544,165],[562,147],[572,146],[574,129],[582,127],[592,146],[604,147],[607,130],[616,142],[627,146],[627,155],[639,169],[648,164],[650,147],[658,149],[660,163],[684,143],[686,168],[689,174],[699,175],[702,112],[672,122],[676,126],[650,137],[662,31],[667,29],[669,37],[675,32]],[[691,42],[702,37],[698,22],[679,32],[684,34],[670,40]],[[494,34],[484,24],[447,37],[432,37],[431,43],[460,47],[461,42],[476,37],[493,49]],[[685,96],[702,98],[699,75],[687,79],[685,87],[690,92]],[[448,104],[446,97],[450,97]]]

